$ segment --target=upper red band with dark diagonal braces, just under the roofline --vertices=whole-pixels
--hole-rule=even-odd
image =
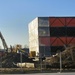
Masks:
[[[75,26],[75,18],[74,17],[50,17],[49,25],[51,27],[63,27],[63,26]]]

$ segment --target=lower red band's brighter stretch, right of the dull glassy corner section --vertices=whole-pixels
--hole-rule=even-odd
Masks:
[[[74,37],[50,37],[51,46],[64,46],[69,44],[75,44]]]

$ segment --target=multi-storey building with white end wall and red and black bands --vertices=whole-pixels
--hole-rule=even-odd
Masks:
[[[50,56],[75,44],[75,17],[37,17],[29,23],[29,50]]]

